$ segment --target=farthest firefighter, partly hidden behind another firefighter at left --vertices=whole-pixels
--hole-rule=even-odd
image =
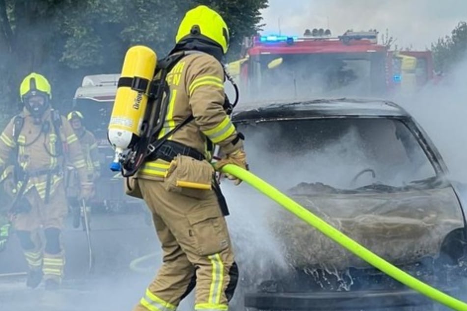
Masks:
[[[83,115],[80,111],[73,110],[69,112],[66,119],[80,141],[81,150],[84,155],[84,160],[86,161],[87,178],[95,182],[99,178],[101,172],[97,140],[94,135],[82,125]],[[81,217],[81,204],[79,202],[80,200],[78,200],[79,178],[74,169],[68,170],[67,173],[65,184],[68,201],[73,213],[73,227],[78,228],[80,226]]]

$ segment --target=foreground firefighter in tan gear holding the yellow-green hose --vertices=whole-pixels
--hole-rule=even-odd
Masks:
[[[225,164],[247,167],[243,136],[222,107],[221,59],[228,44],[225,22],[207,6],[188,11],[181,21],[170,54],[185,56],[166,78],[171,96],[159,138],[191,114],[194,120],[170,135],[136,175],[152,212],[163,264],[134,311],[174,311],[194,287],[195,310],[227,310],[237,285],[224,219],[228,211],[209,163],[216,144],[224,155],[217,169]],[[180,180],[191,182],[182,185]]]

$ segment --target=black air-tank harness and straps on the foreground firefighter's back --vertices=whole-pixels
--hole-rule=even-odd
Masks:
[[[122,175],[123,177],[131,177],[136,174],[144,160],[154,154],[176,131],[190,123],[194,117],[190,114],[175,128],[168,131],[163,137],[157,138],[159,132],[164,125],[165,116],[167,114],[168,103],[170,102],[170,88],[165,80],[167,74],[172,68],[185,56],[192,53],[200,53],[198,51],[182,51],[169,55],[157,62],[154,79],[150,82],[148,104],[144,113],[143,122],[141,124],[140,137],[136,144],[128,151],[122,161]],[[232,84],[235,89],[235,101],[230,102],[227,95],[225,95],[223,109],[230,115],[234,107],[238,103],[239,90],[234,79],[228,74],[224,66],[225,78]],[[134,90],[145,92],[147,84],[141,83],[138,78],[120,78],[118,86],[130,85]]]

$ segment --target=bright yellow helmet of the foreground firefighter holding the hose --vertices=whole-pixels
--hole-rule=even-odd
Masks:
[[[222,17],[209,7],[199,5],[185,14],[178,27],[175,42],[201,36],[220,45],[225,54],[229,48],[229,30]]]

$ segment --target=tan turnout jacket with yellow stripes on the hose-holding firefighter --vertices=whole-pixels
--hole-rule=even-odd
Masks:
[[[237,131],[223,109],[224,71],[220,62],[204,52],[189,53],[167,74],[170,101],[159,138],[182,123],[190,114],[194,120],[177,130],[168,140],[192,147],[211,159],[208,139],[228,154],[242,146],[231,143]],[[160,180],[169,163],[162,159],[145,162],[138,178]]]

